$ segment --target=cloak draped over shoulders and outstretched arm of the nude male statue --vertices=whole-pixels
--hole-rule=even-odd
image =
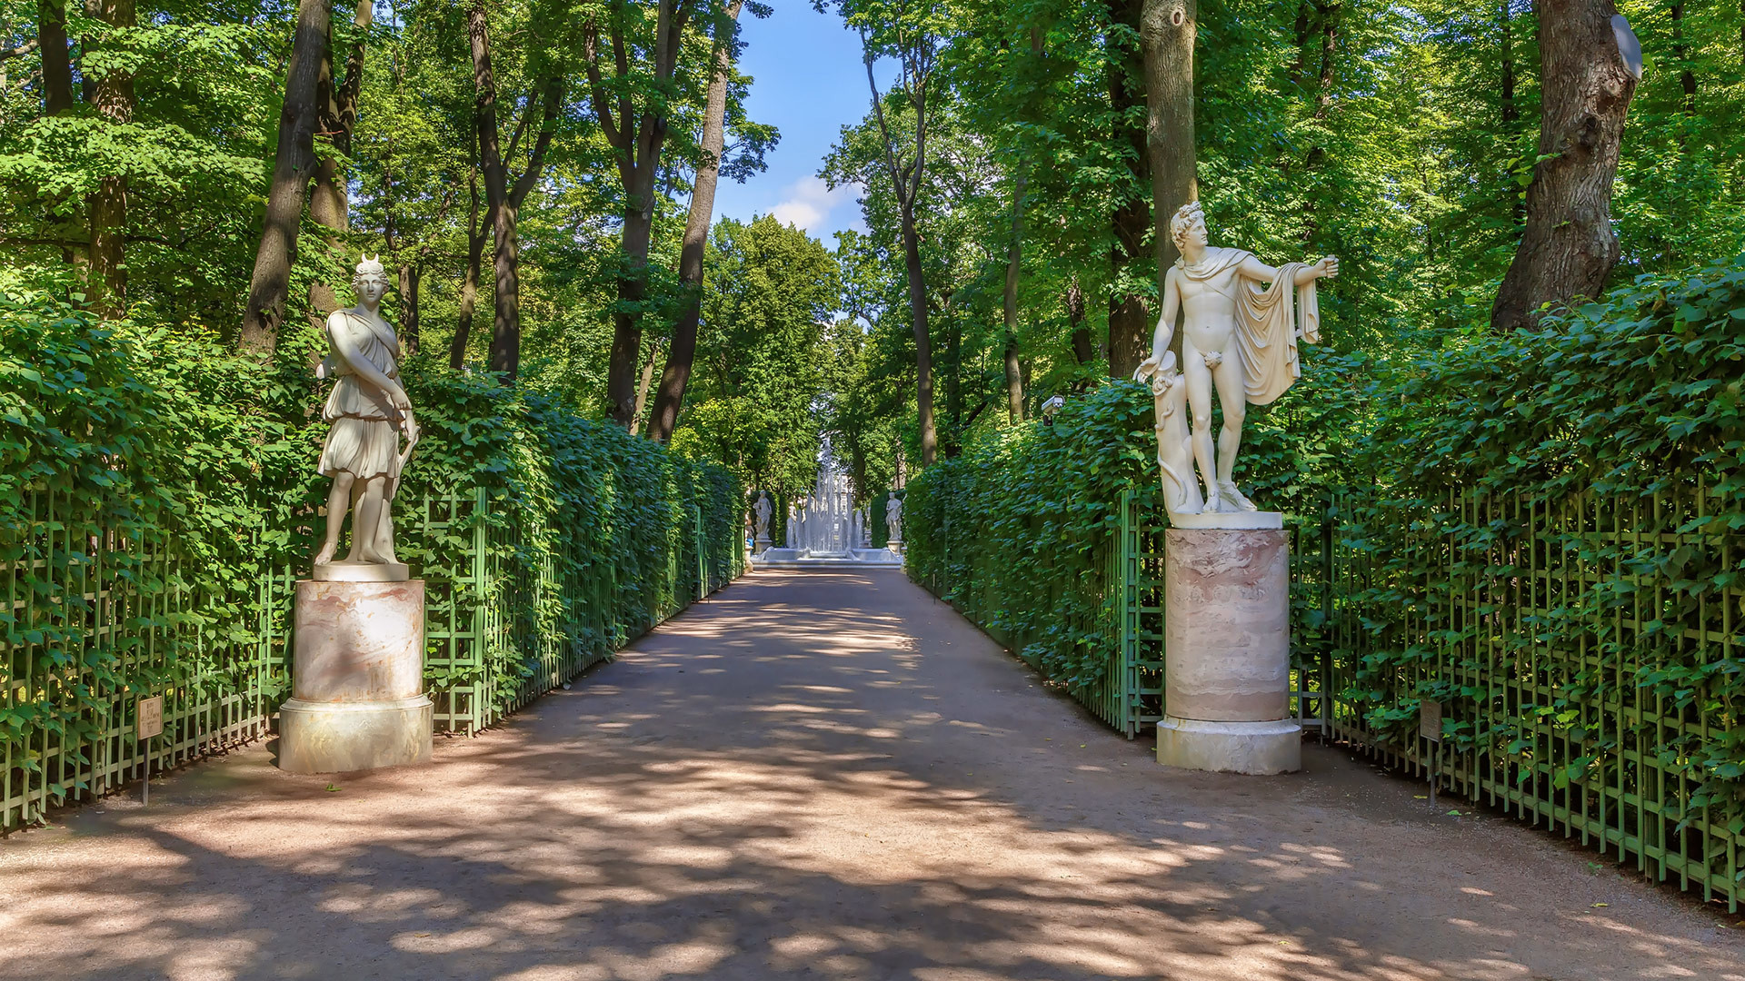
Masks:
[[[1218,255],[1208,255],[1206,262],[1192,267],[1178,258],[1176,269],[1188,279],[1204,283],[1253,255],[1239,248],[1216,251]],[[1298,337],[1309,344],[1321,340],[1316,281],[1310,279],[1295,290],[1291,288],[1302,267],[1302,262],[1286,262],[1269,286],[1262,286],[1241,272],[1234,279],[1235,339],[1242,354],[1242,388],[1249,405],[1270,405],[1302,377],[1302,365],[1297,360]],[[1293,292],[1295,304],[1291,302]]]

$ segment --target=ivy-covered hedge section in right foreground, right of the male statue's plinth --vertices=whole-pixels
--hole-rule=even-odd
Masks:
[[[1745,258],[1380,372],[1335,550],[1351,735],[1417,761],[1441,702],[1457,789],[1736,901],[1742,386]]]

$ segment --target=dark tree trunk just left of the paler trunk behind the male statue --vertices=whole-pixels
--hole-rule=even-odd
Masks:
[[[1141,0],[1115,0],[1110,17],[1117,24],[1139,31]],[[1145,250],[1145,236],[1152,230],[1150,180],[1152,162],[1145,147],[1145,59],[1138,45],[1122,31],[1108,33],[1108,98],[1115,110],[1117,145],[1127,150],[1127,189],[1117,196],[1110,215],[1110,297],[1108,297],[1108,375],[1126,379],[1145,360],[1145,346],[1152,339],[1146,323],[1145,298],[1134,288],[1133,264]]]

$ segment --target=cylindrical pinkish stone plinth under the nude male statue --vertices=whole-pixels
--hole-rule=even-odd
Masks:
[[[1284,531],[1164,534],[1166,716],[1157,724],[1157,761],[1230,773],[1300,770],[1302,731],[1290,721]]]

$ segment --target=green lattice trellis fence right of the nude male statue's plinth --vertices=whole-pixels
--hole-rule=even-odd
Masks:
[[[1338,503],[1335,735],[1736,909],[1738,780],[1708,754],[1738,726],[1745,541],[1708,499]]]

